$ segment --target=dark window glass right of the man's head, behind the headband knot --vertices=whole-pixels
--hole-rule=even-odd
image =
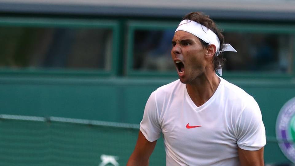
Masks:
[[[224,52],[224,70],[230,71],[292,71],[293,36],[225,32],[226,43],[238,51]]]

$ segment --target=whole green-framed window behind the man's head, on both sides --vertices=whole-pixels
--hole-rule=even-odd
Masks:
[[[293,73],[294,28],[284,25],[218,25],[224,30],[225,42],[238,51],[223,52],[227,59],[223,66],[225,75]],[[175,75],[170,54],[176,27],[177,23],[130,23],[128,74]]]

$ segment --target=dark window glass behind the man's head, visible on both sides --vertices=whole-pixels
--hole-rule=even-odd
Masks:
[[[277,33],[224,32],[226,43],[238,51],[223,52],[228,71],[290,73],[293,62],[293,35]],[[135,30],[133,70],[175,71],[171,59],[174,29]]]

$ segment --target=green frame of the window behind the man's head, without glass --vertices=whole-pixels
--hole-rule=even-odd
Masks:
[[[165,30],[175,29],[178,22],[152,22],[152,21],[129,21],[128,22],[128,48],[126,74],[128,76],[162,76],[177,77],[175,72],[159,71],[136,71],[133,65],[133,42],[135,30]],[[228,23],[216,22],[218,27],[224,32],[255,32],[255,33],[275,33],[289,34],[293,36],[293,55],[291,62],[291,73],[267,72],[267,71],[226,71],[223,77],[227,78],[292,78],[295,74],[295,25],[286,24],[258,24],[258,23]],[[172,47],[171,47],[172,48]]]

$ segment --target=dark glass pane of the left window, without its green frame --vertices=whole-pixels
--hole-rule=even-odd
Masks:
[[[0,67],[111,69],[111,29],[5,26],[0,32]]]

